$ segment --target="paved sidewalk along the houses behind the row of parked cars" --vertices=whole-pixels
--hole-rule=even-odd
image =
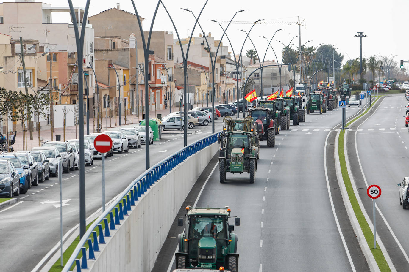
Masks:
[[[175,108],[175,111],[178,111],[179,108]],[[166,115],[169,114],[169,109],[166,110],[157,110],[156,114],[162,114],[162,117],[165,117]],[[155,117],[155,111],[150,111],[149,112],[149,117]],[[142,114],[139,116],[140,120],[143,119]],[[138,115],[132,115],[132,121],[131,122],[131,116],[126,115],[126,124],[125,124],[125,118],[122,116],[121,121],[122,124],[119,126],[119,117],[117,117],[117,126],[115,126],[115,117],[112,118],[102,118],[102,124],[101,124],[101,131],[105,130],[117,130],[120,127],[130,127],[130,126],[136,126],[139,125],[139,118]],[[84,117],[84,121],[86,122],[86,118]],[[57,120],[58,122],[58,120]],[[111,124],[111,126],[110,126]],[[106,127],[108,125],[108,128]],[[97,132],[97,119],[95,119],[95,126],[93,123],[93,119],[90,118],[90,133]],[[63,128],[55,128],[55,132],[53,133],[53,139],[51,139],[51,130],[40,130],[40,138],[41,142],[45,141],[51,141],[55,140],[55,135],[61,135],[61,141],[64,140],[64,130]],[[77,130],[77,132],[76,132]],[[84,125],[84,135],[87,133],[87,126]],[[65,127],[65,140],[70,140],[70,139],[78,139],[79,137],[79,126],[67,126]],[[38,146],[38,131],[35,130],[33,131],[33,139],[30,140],[30,135],[29,132],[27,131],[27,150],[31,150],[31,148]],[[23,139],[22,139],[22,133],[17,133],[16,137],[16,142],[13,144],[14,152],[17,152],[19,150],[25,150],[25,147],[23,147]]]

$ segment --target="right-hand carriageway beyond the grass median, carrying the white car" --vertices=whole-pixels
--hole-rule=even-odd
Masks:
[[[382,195],[376,200],[376,230],[397,271],[409,267],[409,239],[405,231],[409,211],[399,205],[399,187],[396,186],[408,176],[409,133],[403,117],[406,105],[403,94],[384,97],[373,115],[351,127],[353,130],[347,139],[350,164],[355,166],[351,167],[355,184],[365,189],[358,192],[371,220],[373,202],[366,195],[366,188],[377,184],[382,189]]]

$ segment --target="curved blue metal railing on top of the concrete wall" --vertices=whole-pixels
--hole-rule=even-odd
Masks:
[[[214,133],[185,146],[178,152],[158,162],[132,181],[131,184],[119,195],[117,201],[112,202],[105,212],[103,212],[103,214],[92,223],[90,228],[88,228],[62,271],[68,272],[73,264],[76,265],[76,272],[80,272],[81,269],[88,269],[87,259],[95,259],[94,252],[99,251],[99,243],[105,243],[105,237],[111,236],[110,230],[116,230],[117,226],[120,225],[120,221],[124,220],[124,216],[128,215],[131,206],[135,206],[135,201],[138,201],[138,199],[142,197],[142,195],[144,195],[156,181],[184,160],[203,148],[217,142],[217,138],[221,133],[222,132]],[[110,220],[109,223],[108,218]],[[102,222],[104,228],[102,227]],[[96,230],[98,230],[99,234],[97,234]],[[85,244],[88,244],[88,255]],[[82,257],[81,259],[78,259],[77,257],[80,253],[82,254]]]

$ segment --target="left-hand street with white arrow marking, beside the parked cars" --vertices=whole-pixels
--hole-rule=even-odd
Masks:
[[[216,120],[215,125],[216,131],[220,131],[222,119]],[[210,135],[211,129],[210,123],[188,130],[192,133],[187,137],[188,144]],[[151,165],[182,147],[183,134],[163,134],[159,142],[150,146]],[[144,145],[139,149],[130,148],[129,153],[115,153],[105,160],[106,202],[145,171],[144,150]],[[101,160],[95,159],[94,165],[85,168],[85,188],[86,216],[89,217],[102,205]],[[18,199],[16,206],[0,210],[0,271],[31,271],[60,240],[58,178],[32,186]],[[65,206],[63,204],[64,234],[79,223],[79,171],[63,174],[63,201],[67,199]]]

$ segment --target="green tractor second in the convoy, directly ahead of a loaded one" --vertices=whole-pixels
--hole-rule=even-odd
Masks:
[[[256,148],[252,145],[252,133],[248,131],[228,131],[217,139],[219,150],[220,183],[225,183],[226,172],[250,174],[254,183],[257,171]]]

